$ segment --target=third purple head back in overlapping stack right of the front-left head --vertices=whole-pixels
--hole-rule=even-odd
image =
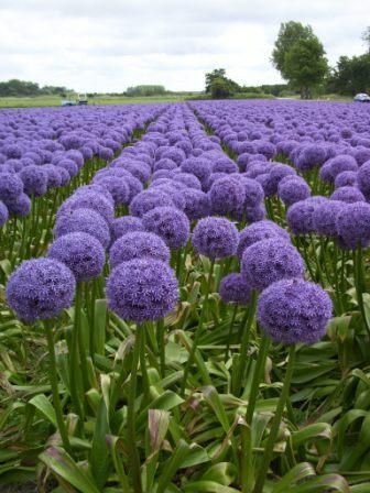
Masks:
[[[111,224],[115,218],[113,206],[102,194],[95,191],[94,188],[85,188],[83,190],[78,188],[74,195],[62,204],[57,211],[56,218],[58,219],[59,217],[70,213],[73,210],[77,209],[92,209],[96,212],[99,212],[108,224]]]

